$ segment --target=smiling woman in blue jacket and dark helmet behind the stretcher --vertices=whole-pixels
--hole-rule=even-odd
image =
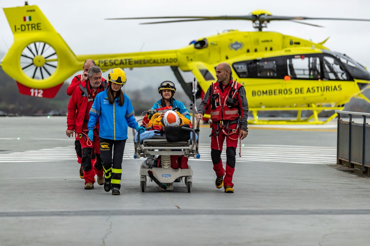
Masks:
[[[185,108],[181,101],[177,101],[174,98],[176,92],[176,86],[171,81],[164,81],[158,86],[158,93],[161,94],[162,99],[154,103],[152,110],[157,108],[163,108],[166,106],[172,106],[172,108],[179,108],[179,113],[184,115],[185,118],[190,119],[189,111]]]

